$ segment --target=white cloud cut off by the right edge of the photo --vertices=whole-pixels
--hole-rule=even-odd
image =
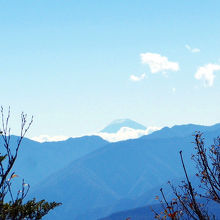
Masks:
[[[198,68],[195,78],[197,80],[203,80],[204,86],[212,86],[214,83],[214,71],[220,70],[220,65],[209,63],[205,66],[201,66]]]

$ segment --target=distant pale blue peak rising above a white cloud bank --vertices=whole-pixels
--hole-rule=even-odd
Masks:
[[[111,122],[109,125],[107,125],[100,132],[117,133],[121,128],[124,128],[124,127],[135,129],[135,130],[146,130],[147,129],[144,125],[139,124],[131,119],[117,119]]]

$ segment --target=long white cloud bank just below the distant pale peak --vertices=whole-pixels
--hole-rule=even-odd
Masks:
[[[160,129],[161,128],[159,127],[148,127],[146,130],[138,130],[138,129],[132,129],[128,127],[123,127],[117,133],[99,132],[99,133],[96,133],[95,135],[98,135],[109,142],[117,142],[117,141],[128,140],[128,139],[136,139],[143,135],[150,134],[153,131],[160,130]]]

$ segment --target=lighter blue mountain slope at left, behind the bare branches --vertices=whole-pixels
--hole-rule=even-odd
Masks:
[[[12,137],[12,145],[17,138]],[[98,136],[70,138],[66,141],[38,143],[24,139],[14,170],[31,186],[108,142]]]

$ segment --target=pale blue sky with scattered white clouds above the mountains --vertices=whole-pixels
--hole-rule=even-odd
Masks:
[[[219,1],[0,6],[0,104],[14,132],[21,111],[34,115],[29,136],[96,132],[118,118],[220,122]]]

